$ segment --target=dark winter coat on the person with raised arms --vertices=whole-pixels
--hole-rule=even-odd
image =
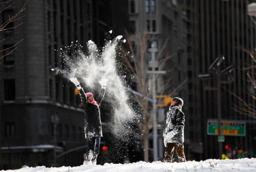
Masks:
[[[104,98],[106,92],[105,88],[101,88],[99,96],[95,99],[99,104]],[[79,90],[79,94],[82,100],[82,108],[85,113],[84,127],[85,138],[91,139],[92,137],[102,137],[101,119],[98,104],[91,104],[87,101],[84,89]]]

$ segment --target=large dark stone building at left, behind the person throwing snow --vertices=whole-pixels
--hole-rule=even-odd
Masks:
[[[104,33],[111,29],[115,35],[122,34],[122,27],[128,24],[126,1],[97,1],[106,9],[97,11],[98,16],[103,16],[102,21],[100,17],[94,17],[94,9],[99,6],[94,2],[29,1],[23,12],[25,17],[14,22],[14,25],[19,22],[24,24],[0,33],[6,39],[2,48],[11,47],[24,38],[18,49],[5,57],[0,66],[0,169],[53,164],[53,115],[59,118],[57,164],[77,166],[83,163],[86,141],[84,115],[78,108],[80,97],[75,95],[74,87],[51,68],[62,67],[60,48],[71,45],[71,42],[77,40],[85,45],[88,40],[95,39],[100,45],[101,36],[104,38]],[[20,9],[25,0],[11,3],[12,9],[5,10],[3,18]],[[121,9],[124,15],[117,16],[116,12]],[[98,26],[94,27],[96,24]],[[74,48],[71,50],[74,51]]]

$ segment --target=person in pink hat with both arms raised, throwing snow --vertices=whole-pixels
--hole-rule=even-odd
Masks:
[[[82,100],[81,108],[85,113],[84,127],[85,138],[88,142],[88,150],[85,156],[84,165],[96,165],[97,156],[99,154],[100,138],[103,137],[99,105],[101,104],[101,101],[104,98],[104,94],[106,92],[107,79],[99,81],[101,84],[101,91],[96,100],[94,100],[93,94],[91,92],[84,92],[84,89],[80,86],[77,78],[70,78],[70,80],[79,90],[79,94]]]

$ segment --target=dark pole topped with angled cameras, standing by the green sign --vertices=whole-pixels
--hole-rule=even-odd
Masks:
[[[205,90],[216,90],[217,91],[217,121],[218,121],[218,143],[219,143],[219,158],[222,159],[222,141],[219,140],[221,134],[221,90],[220,84],[222,83],[232,83],[234,78],[231,75],[231,72],[235,68],[235,64],[231,64],[227,66],[224,70],[220,70],[220,64],[224,61],[224,57],[220,55],[215,59],[215,61],[209,66],[208,71],[209,73],[200,74],[198,75],[201,79],[209,79],[211,77],[216,77],[216,87],[205,87]],[[227,80],[222,81],[221,76],[227,75]]]

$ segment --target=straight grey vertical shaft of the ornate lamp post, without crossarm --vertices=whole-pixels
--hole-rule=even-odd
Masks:
[[[155,52],[152,52],[152,99],[153,99],[153,153],[154,153],[154,161],[158,160],[157,156],[157,112],[156,112],[156,85],[155,85]]]

